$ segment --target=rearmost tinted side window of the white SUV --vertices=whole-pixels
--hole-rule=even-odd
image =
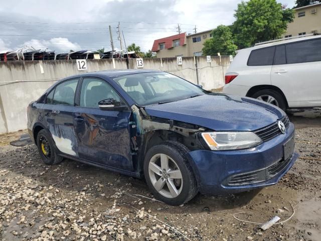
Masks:
[[[248,66],[272,65],[275,47],[255,49],[251,51],[247,61]]]

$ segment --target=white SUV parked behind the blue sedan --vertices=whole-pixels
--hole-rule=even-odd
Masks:
[[[237,51],[223,92],[283,110],[321,106],[321,35],[276,40]]]

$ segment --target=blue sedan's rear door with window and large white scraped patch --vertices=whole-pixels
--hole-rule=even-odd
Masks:
[[[78,156],[78,143],[73,124],[78,80],[79,78],[75,78],[58,84],[47,95],[44,104],[47,128],[57,148],[62,153],[72,156]]]

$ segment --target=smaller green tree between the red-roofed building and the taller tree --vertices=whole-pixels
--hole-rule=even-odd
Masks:
[[[236,49],[230,28],[219,25],[212,31],[212,38],[205,41],[202,51],[203,55],[234,55]]]

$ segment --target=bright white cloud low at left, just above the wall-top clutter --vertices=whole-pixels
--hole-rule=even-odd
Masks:
[[[34,47],[35,49],[45,50],[48,48],[49,51],[58,52],[69,52],[70,50],[81,50],[78,43],[73,43],[68,40],[68,38],[52,38],[47,40],[32,39],[26,41],[22,46],[28,45],[29,47]]]

